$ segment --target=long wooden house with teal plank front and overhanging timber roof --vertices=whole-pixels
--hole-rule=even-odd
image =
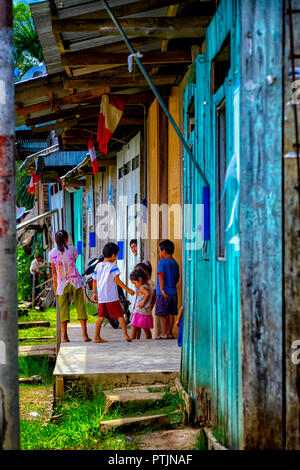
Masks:
[[[81,273],[112,239],[128,280],[136,238],[155,279],[159,242],[174,240],[191,422],[230,449],[300,449],[299,2],[108,3],[159,99],[104,2],[32,4],[47,75],[15,85],[16,125],[59,150],[23,168],[59,209],[53,230],[70,233]],[[106,95],[125,99],[107,154]]]

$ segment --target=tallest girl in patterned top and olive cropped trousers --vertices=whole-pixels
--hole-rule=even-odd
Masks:
[[[91,341],[87,334],[87,314],[84,303],[83,282],[76,269],[75,262],[78,257],[74,246],[68,246],[68,233],[59,230],[55,234],[57,248],[53,248],[48,255],[52,267],[52,277],[55,295],[58,296],[60,318],[62,326],[63,343],[69,342],[67,324],[70,321],[70,298],[73,298],[78,320],[81,323],[84,341]]]

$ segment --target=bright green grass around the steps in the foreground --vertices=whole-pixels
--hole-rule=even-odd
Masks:
[[[55,421],[35,419],[21,420],[21,449],[23,450],[136,450],[139,438],[128,439],[126,433],[109,430],[100,433],[100,421],[129,416],[172,413],[179,408],[178,394],[165,392],[163,401],[140,406],[118,406],[105,413],[105,396],[101,386],[87,389],[78,385],[66,387],[63,400],[57,400],[53,415]],[[35,409],[37,405],[35,405]],[[176,415],[178,417],[179,415]],[[178,419],[178,418],[177,418]],[[181,418],[182,419],[182,416]],[[173,424],[176,423],[173,420]],[[143,432],[151,431],[151,428]]]

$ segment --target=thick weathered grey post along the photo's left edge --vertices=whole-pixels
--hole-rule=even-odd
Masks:
[[[0,0],[0,43],[0,450],[16,450],[19,449],[19,378],[14,63],[10,0]]]

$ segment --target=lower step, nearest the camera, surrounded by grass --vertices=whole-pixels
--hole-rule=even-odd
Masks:
[[[144,429],[148,427],[151,427],[152,429],[161,429],[166,428],[169,425],[170,417],[166,414],[111,419],[109,421],[100,422],[100,432],[109,431],[110,429],[118,429],[120,432],[127,432],[131,429]]]

